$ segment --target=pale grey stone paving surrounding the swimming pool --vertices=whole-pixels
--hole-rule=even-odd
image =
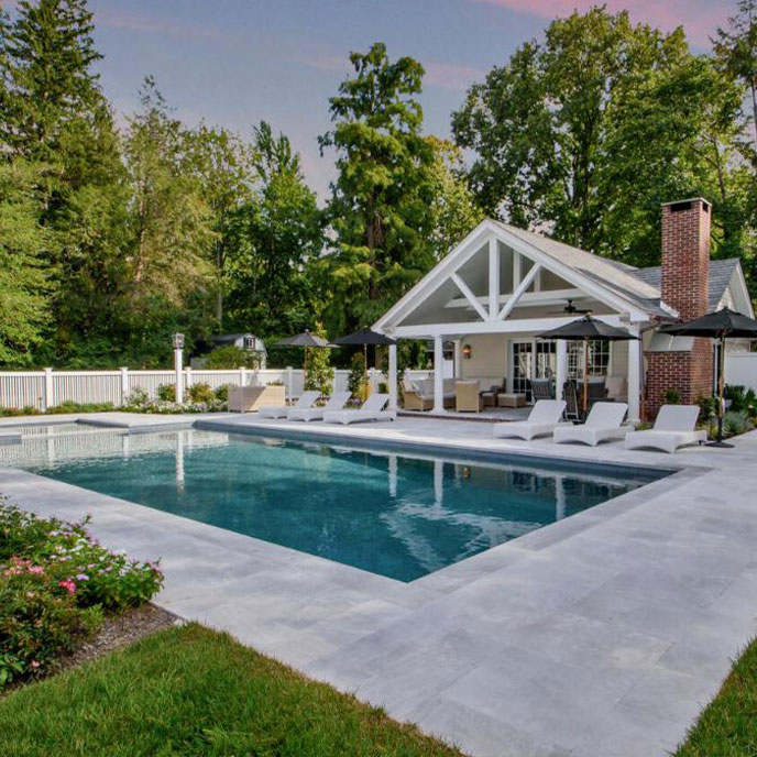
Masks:
[[[757,432],[665,456],[494,440],[487,424],[441,419],[198,426],[680,469],[408,584],[0,470],[18,504],[92,513],[103,542],[162,556],[168,610],[478,757],[661,757],[757,628]]]

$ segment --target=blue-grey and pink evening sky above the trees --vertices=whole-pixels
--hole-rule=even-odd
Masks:
[[[0,0],[1,1],[1,0]],[[633,21],[683,24],[696,50],[735,11],[736,0],[606,0]],[[322,201],[333,155],[316,138],[329,128],[328,99],[350,72],[350,51],[376,41],[391,58],[426,68],[425,130],[450,134],[467,88],[503,65],[549,21],[596,0],[90,0],[101,84],[121,114],[139,107],[146,75],[175,114],[249,136],[262,119],[286,133]]]

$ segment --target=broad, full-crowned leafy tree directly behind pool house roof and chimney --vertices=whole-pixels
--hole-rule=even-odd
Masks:
[[[594,8],[555,20],[544,42],[490,72],[452,129],[476,154],[469,180],[489,213],[649,265],[660,202],[718,187],[738,99],[681,29],[666,35]]]

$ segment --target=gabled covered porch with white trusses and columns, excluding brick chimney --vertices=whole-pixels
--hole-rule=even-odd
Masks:
[[[534,382],[549,382],[553,395],[562,397],[568,380],[584,380],[583,342],[547,341],[538,334],[590,311],[639,337],[589,347],[589,381],[604,382],[607,398],[627,402],[629,420],[638,421],[644,347],[657,319],[669,317],[655,304],[657,293],[646,289],[607,260],[484,221],[374,328],[397,340],[429,341],[434,377],[424,387],[430,407],[423,409],[449,415],[454,410],[450,393],[459,382],[518,396],[518,406],[533,403]],[[391,403],[397,407],[396,347],[390,349],[388,373]],[[500,416],[498,410],[496,402],[483,408],[486,415]]]

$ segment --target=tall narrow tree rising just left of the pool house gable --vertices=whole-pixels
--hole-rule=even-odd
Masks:
[[[319,138],[321,151],[336,150],[339,172],[328,208],[334,243],[323,260],[332,330],[374,320],[434,262],[434,151],[416,99],[423,66],[391,62],[382,43],[350,62],[354,76],[330,99],[334,127]]]

